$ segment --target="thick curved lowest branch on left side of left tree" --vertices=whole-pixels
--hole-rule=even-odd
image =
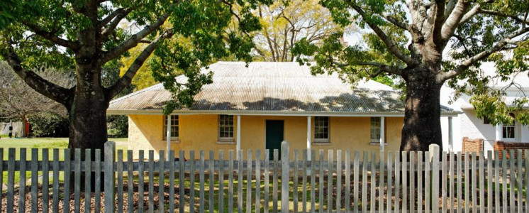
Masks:
[[[21,58],[18,57],[11,46],[8,46],[8,48],[0,52],[2,57],[4,57],[4,59],[7,60],[9,65],[13,68],[16,75],[21,77],[21,79],[26,82],[29,87],[35,89],[35,91],[54,100],[55,102],[59,102],[65,106],[71,105],[73,89],[60,87],[57,84],[45,80],[35,72],[24,69],[24,67],[22,67]]]

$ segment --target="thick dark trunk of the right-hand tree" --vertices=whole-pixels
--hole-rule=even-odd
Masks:
[[[418,69],[404,77],[407,90],[401,151],[428,151],[432,143],[442,150],[439,100],[442,83],[436,83],[429,70]]]

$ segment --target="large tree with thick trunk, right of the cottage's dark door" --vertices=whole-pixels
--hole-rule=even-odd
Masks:
[[[446,81],[467,80],[482,87],[487,78],[480,75],[481,62],[496,62],[496,75],[508,77],[523,70],[527,60],[526,0],[322,0],[321,4],[336,23],[364,28],[367,45],[343,48],[342,35],[336,33],[323,45],[301,40],[294,53],[300,62],[316,60],[314,72],[402,77],[406,83],[402,151],[426,151],[431,143],[442,146],[440,89]],[[503,57],[508,50],[515,57]]]

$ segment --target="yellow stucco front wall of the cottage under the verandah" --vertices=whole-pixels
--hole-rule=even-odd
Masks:
[[[237,119],[235,120],[234,137],[237,135]],[[290,149],[301,150],[306,148],[306,125],[305,116],[241,116],[241,148],[246,155],[247,149],[260,149],[263,155],[265,151],[265,124],[266,120],[284,121],[284,139],[289,141]],[[130,115],[129,116],[129,149],[134,151],[134,158],[138,158],[138,150],[155,150],[155,158],[158,151],[165,150],[166,141],[163,139],[163,116],[161,115]],[[323,149],[325,156],[328,150],[344,151],[380,151],[380,146],[369,145],[369,117],[330,117],[330,143],[312,143],[312,148],[318,153]],[[311,121],[311,134],[313,136],[314,119]],[[386,151],[398,151],[401,140],[401,128],[403,118],[386,118]],[[313,141],[313,140],[312,140]],[[171,148],[177,153],[185,151],[189,158],[189,151],[195,151],[195,158],[199,158],[199,151],[224,150],[225,159],[228,158],[228,150],[235,150],[233,144],[218,143],[218,115],[180,115],[179,116],[179,141],[173,141]],[[292,153],[291,153],[292,155]],[[145,152],[147,158],[147,152]],[[253,154],[255,158],[255,153]],[[326,158],[326,157],[325,157]]]

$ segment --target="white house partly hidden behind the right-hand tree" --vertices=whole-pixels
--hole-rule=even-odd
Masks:
[[[492,63],[485,63],[481,66],[486,75],[494,75],[495,67]],[[494,89],[503,89],[506,91],[504,97],[505,102],[508,104],[513,102],[516,97],[523,97],[525,94],[529,94],[529,70],[521,72],[516,76],[513,76],[511,80],[503,82],[497,78],[491,81],[489,87]],[[513,82],[517,87],[509,84]],[[498,125],[494,126],[489,124],[489,121],[485,119],[479,119],[474,112],[472,104],[470,104],[470,96],[462,94],[462,96],[453,103],[449,103],[450,98],[453,97],[454,89],[450,87],[442,87],[441,89],[441,104],[451,107],[457,111],[462,111],[462,114],[453,118],[442,117],[442,131],[443,131],[443,145],[444,147],[450,147],[453,151],[462,151],[462,138],[467,137],[470,139],[483,139],[484,140],[484,151],[493,150],[494,141],[504,142],[528,142],[529,143],[529,126],[523,126],[519,122],[513,125]],[[513,112],[516,114],[516,112]],[[450,129],[448,128],[449,119],[452,119],[452,136],[449,136]],[[450,146],[450,142],[452,146]]]

